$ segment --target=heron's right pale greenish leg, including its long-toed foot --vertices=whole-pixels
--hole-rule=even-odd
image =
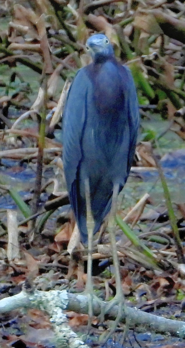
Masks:
[[[116,283],[116,295],[114,298],[110,301],[108,308],[106,309],[106,313],[115,306],[118,305],[118,315],[114,321],[113,326],[110,329],[110,332],[106,334],[106,337],[102,337],[101,340],[107,340],[116,330],[116,327],[119,324],[120,318],[122,316],[122,312],[124,311],[126,315],[126,305],[124,303],[124,294],[121,286],[121,278],[120,278],[120,270],[119,270],[119,260],[118,260],[118,254],[116,250],[116,239],[115,239],[115,214],[116,214],[116,203],[118,200],[118,194],[119,194],[119,184],[115,184],[113,188],[113,196],[112,196],[112,204],[111,204],[111,211],[110,216],[108,219],[108,233],[110,236],[110,242],[111,242],[111,248],[112,248],[112,257],[113,257],[113,263],[114,263],[114,269],[115,269],[115,283]],[[127,325],[126,325],[127,329]],[[125,330],[124,334],[127,330]]]

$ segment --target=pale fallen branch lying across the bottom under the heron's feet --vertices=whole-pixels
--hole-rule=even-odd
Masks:
[[[104,306],[106,313],[108,302],[102,301],[102,305]],[[76,313],[88,314],[88,298],[83,294],[68,293],[66,290],[52,290],[47,292],[38,290],[26,292],[23,290],[17,295],[0,300],[0,313],[6,313],[10,310],[21,307],[40,308],[41,310],[46,310],[50,315],[50,321],[54,324],[55,332],[56,330],[61,332],[64,324],[64,314],[62,310],[73,310]],[[100,310],[99,302],[93,299],[94,315],[98,316],[100,314]],[[118,306],[114,306],[110,309],[109,313],[106,314],[105,319],[114,320],[117,313]],[[180,338],[185,337],[185,323],[182,321],[159,317],[130,307],[127,308],[127,315],[129,316],[130,327],[135,328],[137,325],[142,325],[150,328],[153,331],[170,333],[171,335]],[[124,313],[122,313],[121,321],[125,321]]]

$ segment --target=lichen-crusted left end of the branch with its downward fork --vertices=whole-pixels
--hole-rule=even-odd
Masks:
[[[0,313],[21,307],[45,310],[50,316],[50,322],[53,324],[55,337],[52,337],[52,343],[55,347],[88,348],[83,341],[79,340],[77,334],[68,325],[67,316],[63,313],[68,303],[69,298],[66,291],[21,291],[17,295],[0,301]]]

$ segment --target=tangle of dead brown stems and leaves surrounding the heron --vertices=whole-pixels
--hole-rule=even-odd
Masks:
[[[147,189],[136,190],[136,195],[126,189],[120,203],[118,219],[129,223],[134,233],[122,226],[125,235],[118,228],[122,287],[130,306],[154,313],[168,306],[171,309],[164,316],[183,316],[184,3],[7,0],[0,1],[0,10],[1,298],[21,291],[26,279],[42,291],[71,290],[79,284],[83,287],[86,281],[77,264],[71,265],[70,272],[74,279],[78,276],[78,283],[65,279],[70,260],[66,248],[74,219],[70,209],[59,208],[69,200],[57,128],[61,128],[69,81],[77,69],[89,63],[85,41],[102,31],[110,38],[118,59],[131,69],[140,104],[142,142],[132,168],[134,180],[131,176],[127,187],[134,191],[148,176],[154,178]],[[162,188],[152,191],[161,167],[164,195]],[[15,174],[21,173],[17,180]],[[170,175],[168,195],[164,186]],[[93,272],[95,287],[107,300],[114,294],[115,284],[113,269],[108,268],[111,251],[106,234],[102,238],[103,244],[95,241]],[[82,248],[79,253],[86,261],[86,251]],[[104,259],[107,263],[99,264]],[[8,315],[5,322],[10,323],[15,316],[17,312]],[[86,314],[70,313],[69,318],[75,328],[87,322]],[[36,344],[50,328],[48,318],[36,309],[20,315],[18,326],[25,321],[29,334],[22,333],[21,338],[20,329],[16,333],[1,328],[1,335],[6,337],[6,342],[0,340],[2,347],[18,340]],[[98,335],[103,328],[96,318],[93,325]],[[48,342],[50,335],[51,330]]]

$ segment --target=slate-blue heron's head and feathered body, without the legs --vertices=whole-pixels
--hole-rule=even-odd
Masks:
[[[105,40],[102,34],[88,39],[89,47],[95,41],[94,61],[77,72],[63,114],[64,173],[83,243],[88,239],[85,180],[96,233],[110,211],[113,185],[121,191],[126,183],[139,122],[130,70],[116,61]]]

